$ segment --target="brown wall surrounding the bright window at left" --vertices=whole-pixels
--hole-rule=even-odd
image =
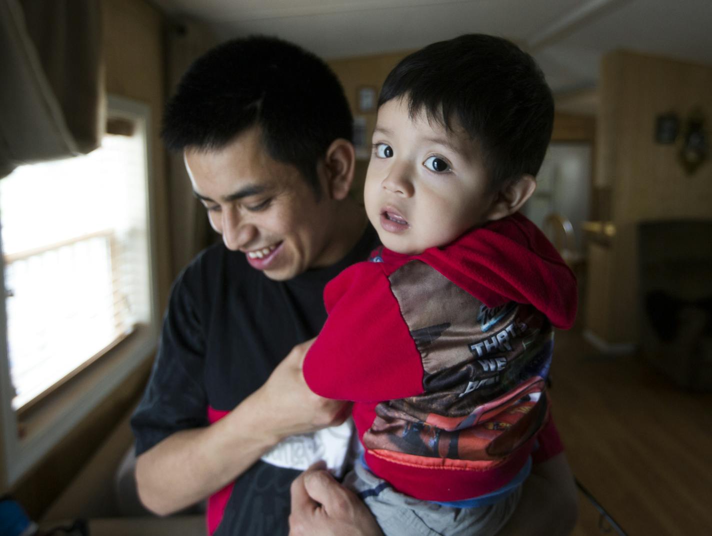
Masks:
[[[166,198],[159,118],[164,100],[163,17],[143,0],[103,0],[104,54],[108,92],[150,104],[152,109],[152,166],[155,225],[157,225],[159,301],[161,308],[170,285],[165,213]],[[151,363],[144,363],[127,378],[89,417],[80,422],[51,453],[25,476],[11,493],[31,518],[61,493],[91,454],[140,396]]]

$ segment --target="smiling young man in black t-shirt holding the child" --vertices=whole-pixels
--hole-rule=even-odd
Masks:
[[[377,241],[345,195],[354,167],[350,134],[333,73],[272,38],[211,50],[167,104],[164,139],[183,152],[223,244],[175,282],[132,419],[138,490],[156,513],[210,496],[216,535],[287,534],[289,487],[300,471],[261,456],[288,436],[345,418],[342,403],[306,387],[300,343],[325,321],[325,283]],[[555,459],[565,473],[565,460]],[[557,513],[571,511],[566,500],[558,503]],[[365,525],[344,520],[345,505],[303,526],[331,530],[338,522],[360,534]]]

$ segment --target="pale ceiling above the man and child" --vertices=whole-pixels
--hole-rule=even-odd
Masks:
[[[279,36],[323,58],[493,33],[532,53],[558,95],[591,94],[602,54],[616,48],[712,65],[712,0],[153,1],[221,38]]]

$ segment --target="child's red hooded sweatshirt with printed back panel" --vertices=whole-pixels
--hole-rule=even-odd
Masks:
[[[371,471],[422,500],[492,493],[548,418],[553,327],[575,277],[523,215],[417,255],[385,248],[333,279],[304,362],[318,395],[355,402]]]

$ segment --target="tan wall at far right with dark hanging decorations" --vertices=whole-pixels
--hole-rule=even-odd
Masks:
[[[626,51],[604,56],[595,183],[610,198],[617,232],[609,246],[595,247],[585,323],[605,343],[637,341],[637,223],[712,218],[712,164],[687,176],[677,161],[679,144],[654,141],[656,116],[672,111],[686,118],[694,107],[702,109],[709,134],[712,67]]]

